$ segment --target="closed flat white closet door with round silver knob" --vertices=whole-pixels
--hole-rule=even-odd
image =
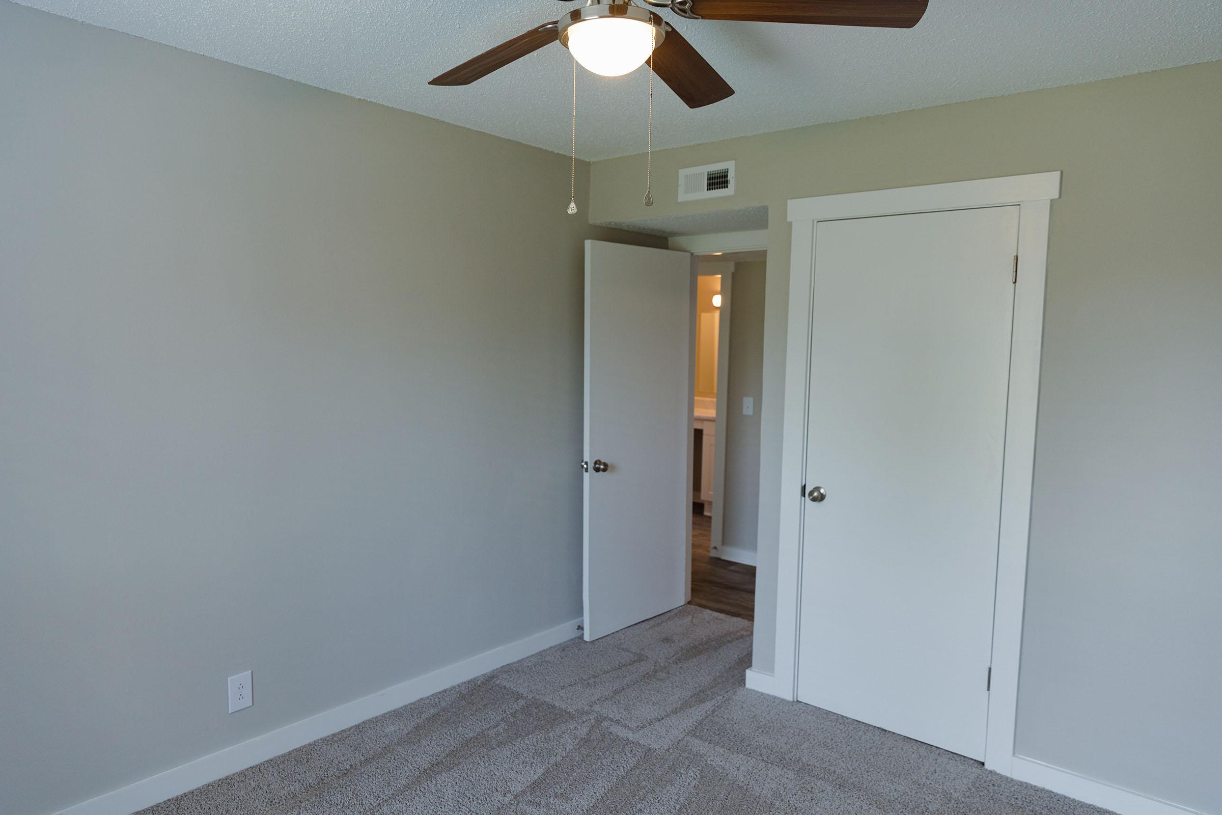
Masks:
[[[1017,242],[1017,206],[815,235],[798,698],[974,759]]]

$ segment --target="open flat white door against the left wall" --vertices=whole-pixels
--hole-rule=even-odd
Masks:
[[[585,242],[585,639],[682,606],[692,529],[692,257]]]

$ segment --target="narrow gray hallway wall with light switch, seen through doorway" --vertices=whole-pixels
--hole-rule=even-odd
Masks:
[[[755,551],[760,485],[760,393],[764,386],[763,260],[734,264],[730,310],[730,370],[726,392],[726,490],[722,546]],[[755,413],[743,415],[743,397]]]

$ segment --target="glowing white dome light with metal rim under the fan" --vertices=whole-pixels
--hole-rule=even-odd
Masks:
[[[560,23],[560,42],[573,59],[604,77],[639,68],[665,35],[657,15],[624,2],[593,2]]]

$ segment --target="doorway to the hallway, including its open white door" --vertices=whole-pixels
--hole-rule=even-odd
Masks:
[[[721,220],[759,227],[759,209]],[[754,618],[766,232],[668,243],[585,243],[587,640],[687,602]]]

